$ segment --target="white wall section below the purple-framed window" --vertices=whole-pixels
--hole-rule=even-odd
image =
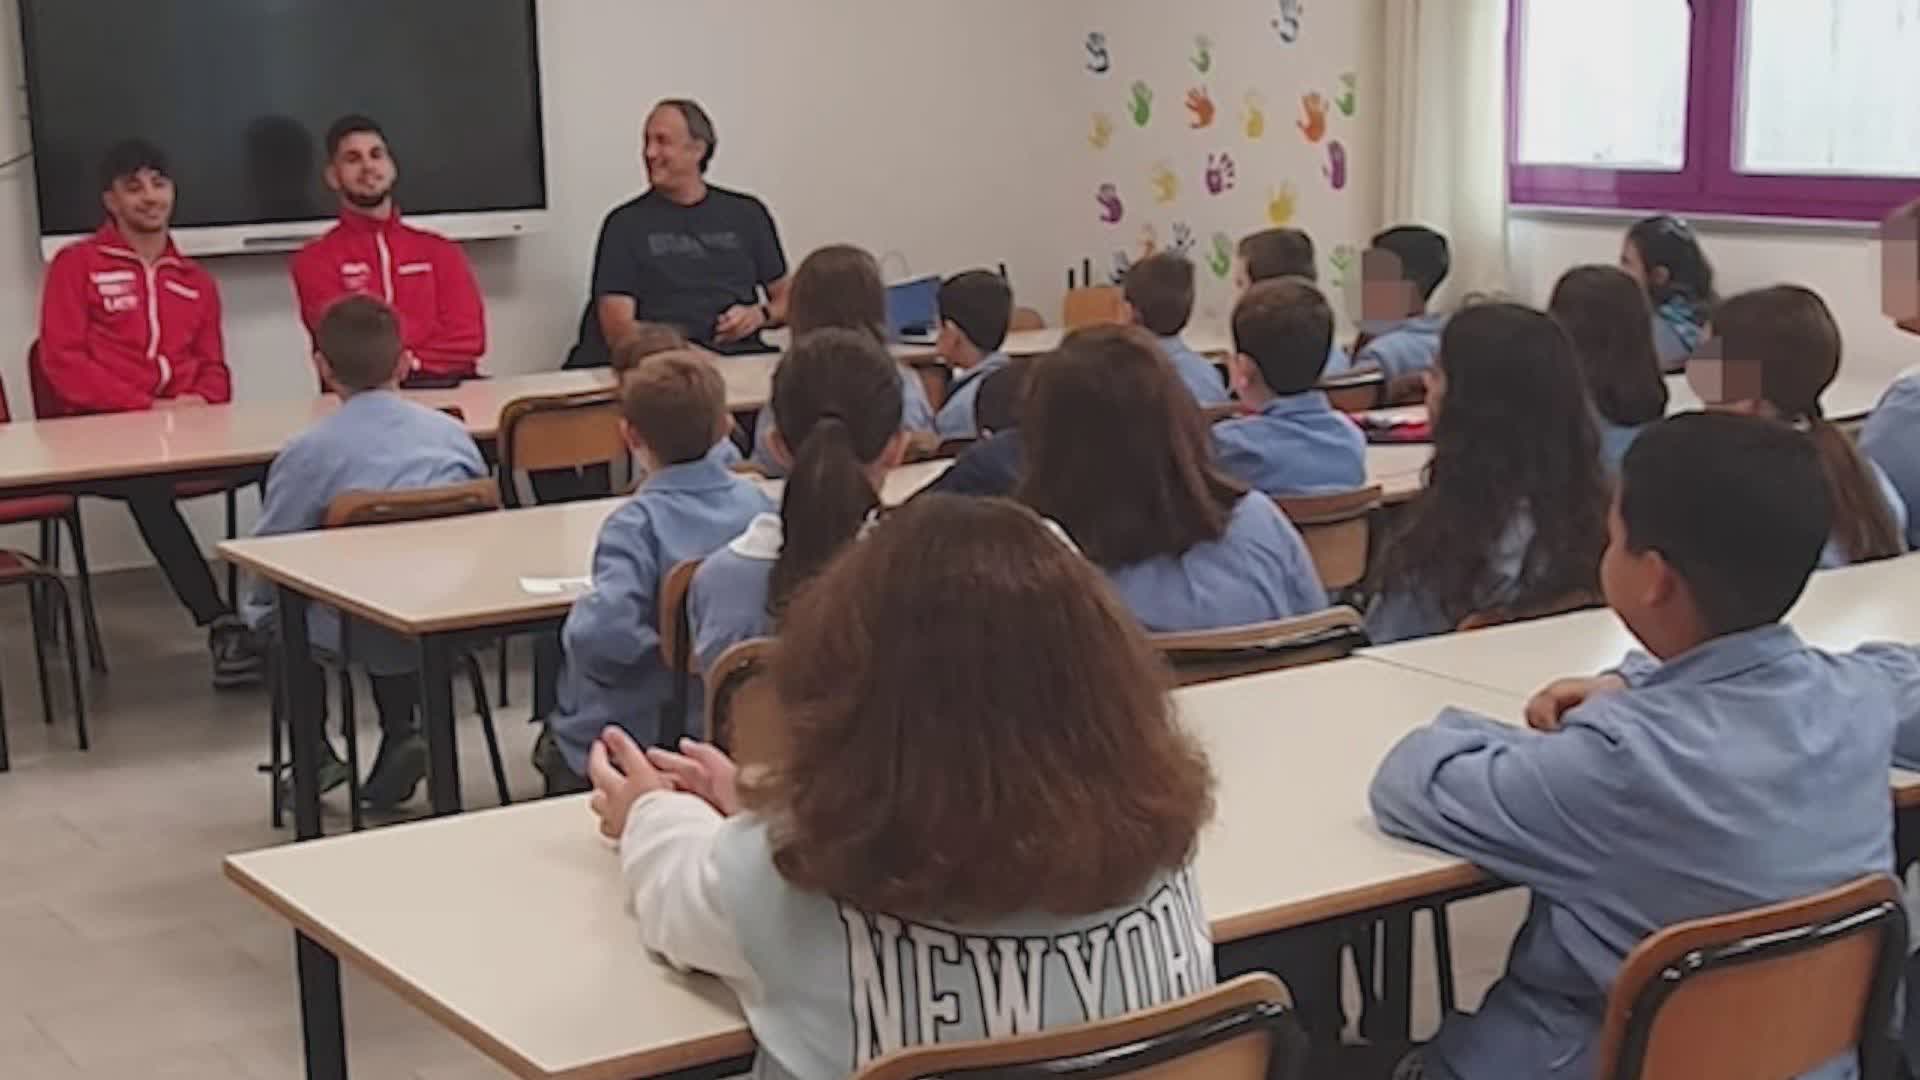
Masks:
[[[1546,304],[1569,267],[1613,263],[1634,217],[1511,219],[1509,256],[1521,300]],[[1849,371],[1893,380],[1920,348],[1880,313],[1880,244],[1870,227],[1697,223],[1722,294],[1805,284],[1826,298],[1847,340]]]

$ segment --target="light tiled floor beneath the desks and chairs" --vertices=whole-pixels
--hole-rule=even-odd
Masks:
[[[0,1078],[300,1076],[292,934],[219,869],[221,855],[286,840],[253,771],[267,749],[265,700],[207,688],[205,650],[157,577],[119,575],[100,594],[113,675],[88,684],[92,753],[75,749],[63,696],[58,726],[40,724],[25,601],[0,596],[13,748],[13,771],[0,774]],[[538,790],[532,734],[516,723],[526,686],[516,673],[516,705],[499,723],[516,794]],[[374,738],[363,738],[369,755]],[[463,738],[463,751],[470,805],[492,805],[480,738]],[[1498,972],[1519,913],[1511,894],[1455,907],[1463,1003]],[[1423,924],[1417,1032],[1434,1022],[1430,955]],[[353,1076],[505,1076],[342,970]]]

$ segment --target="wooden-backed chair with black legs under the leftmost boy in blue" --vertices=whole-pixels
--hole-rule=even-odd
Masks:
[[[403,521],[432,521],[440,517],[463,517],[470,513],[488,513],[499,509],[499,488],[493,480],[468,480],[465,484],[449,484],[444,488],[420,488],[420,490],[397,490],[397,492],[344,492],[326,505],[326,517],[321,521],[321,528],[357,528],[363,525],[396,525]],[[355,723],[355,701],[353,701],[353,648],[351,648],[351,619],[342,615],[340,619],[340,651],[321,653],[315,659],[332,667],[340,686],[340,719],[346,728],[348,744],[348,815],[351,817],[353,830],[361,830],[361,805],[359,805],[359,726]],[[507,767],[499,755],[499,734],[493,728],[493,709],[488,703],[486,678],[480,675],[480,661],[474,659],[470,651],[461,651],[461,665],[467,669],[467,680],[472,688],[474,709],[480,713],[480,730],[486,736],[486,749],[490,765],[493,767],[493,784],[499,790],[501,805],[513,803],[513,792],[507,786]],[[280,771],[282,771],[282,726],[284,715],[280,711],[280,701],[275,701],[273,709],[273,738],[271,738],[271,757],[267,763],[267,773],[273,776],[273,822],[275,828],[280,824],[282,805],[280,805]]]

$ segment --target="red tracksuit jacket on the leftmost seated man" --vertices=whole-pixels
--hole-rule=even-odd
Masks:
[[[146,265],[109,221],[54,256],[33,363],[40,417],[125,413],[159,398],[232,398],[213,277],[167,252]]]

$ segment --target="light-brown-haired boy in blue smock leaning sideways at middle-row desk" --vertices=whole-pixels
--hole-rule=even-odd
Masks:
[[[712,452],[730,423],[726,382],[701,354],[643,359],[620,379],[620,411],[647,479],[601,527],[593,588],[574,601],[561,630],[559,707],[534,746],[549,796],[588,790],[588,749],[609,726],[641,744],[659,738],[672,694],[660,657],[660,578],[687,559],[705,559],[774,509]]]

